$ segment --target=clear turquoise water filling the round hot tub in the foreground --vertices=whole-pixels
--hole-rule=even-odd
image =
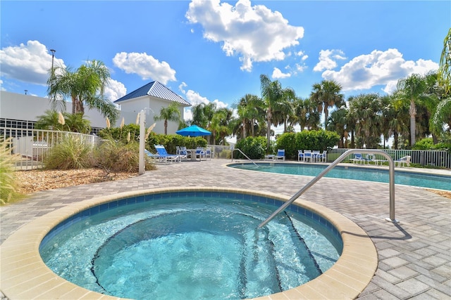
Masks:
[[[72,216],[39,248],[70,282],[130,299],[244,299],[316,278],[342,240],[321,216],[239,193],[188,192],[118,200]]]

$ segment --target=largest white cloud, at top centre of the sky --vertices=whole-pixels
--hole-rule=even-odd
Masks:
[[[251,6],[249,0],[239,0],[235,6],[220,0],[192,0],[185,16],[202,25],[205,39],[222,43],[227,56],[237,54],[241,70],[248,72],[254,62],[283,60],[283,49],[304,37],[303,27],[288,25],[278,11]]]

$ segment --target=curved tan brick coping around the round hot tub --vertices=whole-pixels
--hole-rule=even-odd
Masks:
[[[1,244],[1,291],[10,299],[118,299],[115,296],[107,296],[78,287],[53,273],[39,255],[39,244],[42,239],[61,221],[104,202],[149,193],[194,190],[261,195],[282,201],[287,201],[290,198],[276,193],[262,193],[256,190],[199,186],[138,190],[75,202],[27,223]],[[294,289],[262,296],[258,299],[357,298],[369,284],[378,267],[378,254],[371,238],[350,219],[320,204],[306,200],[297,200],[295,204],[323,216],[337,228],[343,240],[342,255],[329,270],[318,278]]]

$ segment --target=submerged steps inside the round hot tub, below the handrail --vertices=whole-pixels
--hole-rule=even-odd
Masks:
[[[281,218],[282,219],[282,218]],[[311,280],[322,271],[288,216],[276,229],[268,223],[245,236],[242,257],[242,296],[252,298],[257,286],[264,294],[285,291]],[[280,226],[285,226],[280,233]],[[261,295],[261,289],[258,290]]]

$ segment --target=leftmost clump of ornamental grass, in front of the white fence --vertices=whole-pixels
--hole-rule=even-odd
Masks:
[[[85,169],[92,167],[91,147],[81,136],[68,135],[44,157],[45,169]]]

